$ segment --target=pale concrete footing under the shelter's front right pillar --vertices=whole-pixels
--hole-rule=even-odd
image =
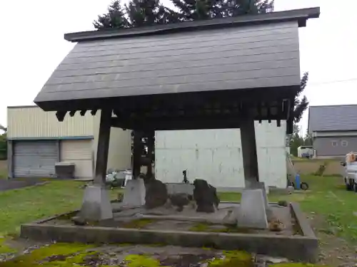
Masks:
[[[234,212],[238,227],[268,229],[266,204],[262,189],[244,190],[241,197],[241,205]]]

